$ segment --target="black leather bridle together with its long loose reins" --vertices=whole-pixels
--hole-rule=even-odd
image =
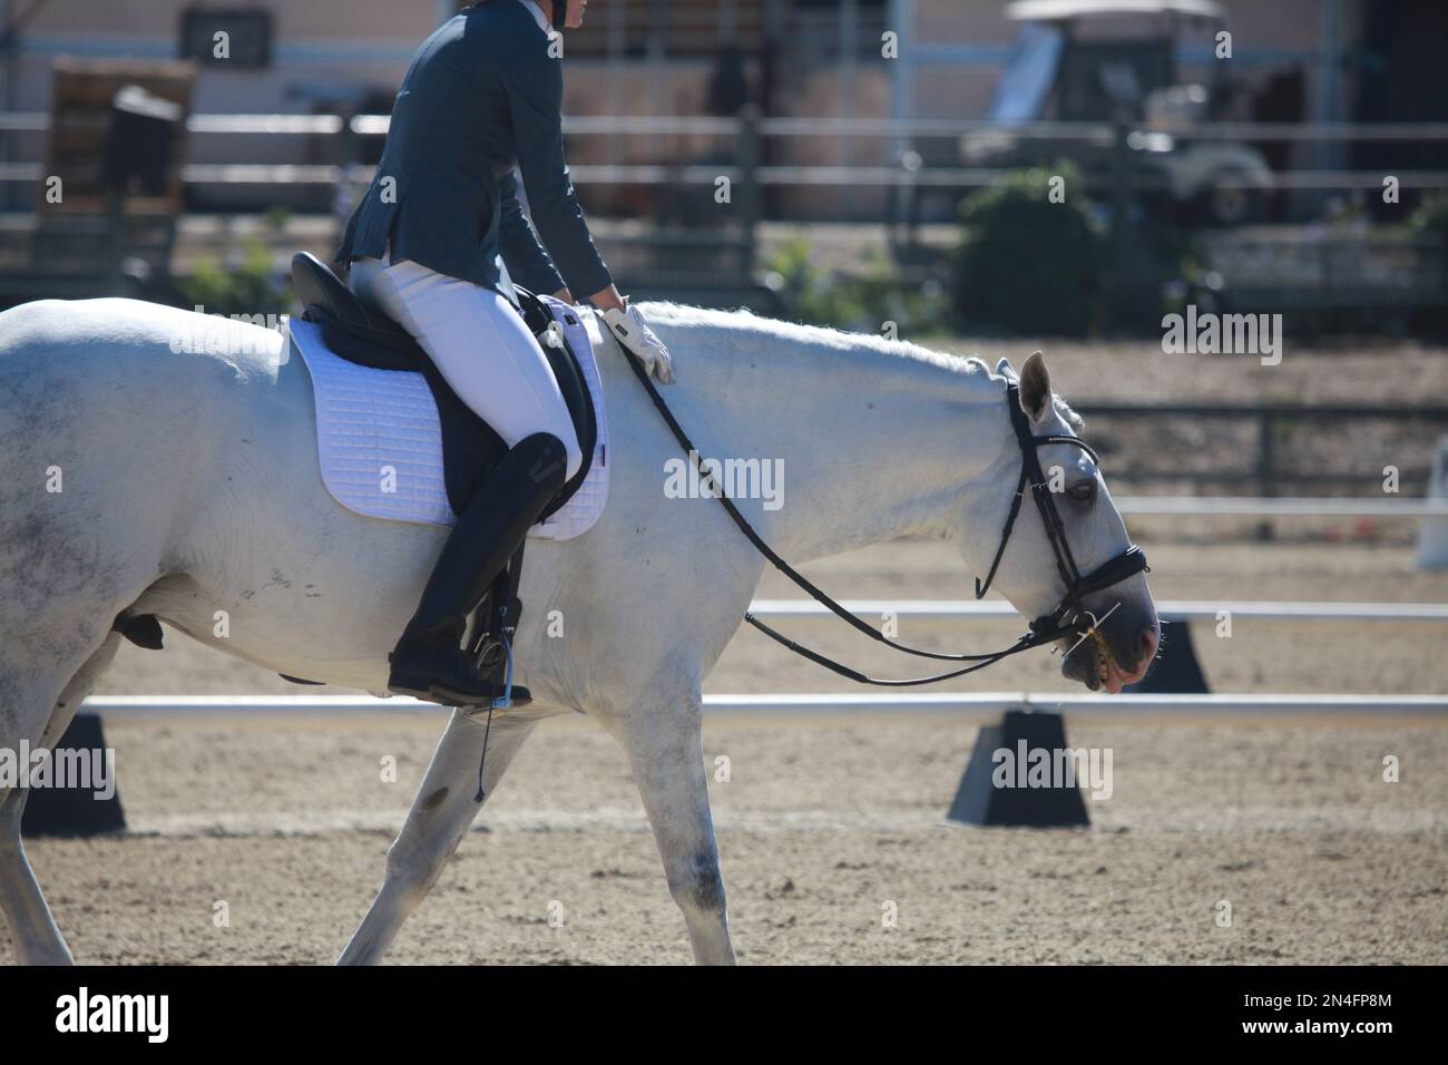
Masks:
[[[931,658],[940,662],[975,664],[950,672],[935,674],[934,677],[914,677],[905,681],[879,680],[867,677],[857,669],[851,669],[843,662],[835,662],[833,658],[827,658],[817,651],[811,651],[809,648],[796,643],[783,633],[760,622],[754,617],[754,614],[746,611],[744,620],[769,636],[772,640],[802,658],[808,658],[817,665],[822,665],[825,669],[830,669],[840,677],[847,677],[859,684],[875,684],[886,688],[909,688],[919,684],[934,684],[937,681],[948,681],[954,677],[964,677],[966,674],[976,672],[977,669],[985,669],[988,665],[993,665],[1003,658],[1009,658],[1011,655],[1019,655],[1022,651],[1047,646],[1063,636],[1085,638],[1095,632],[1095,626],[1100,619],[1093,617],[1090,611],[1086,610],[1082,604],[1083,597],[1092,594],[1093,591],[1100,591],[1102,588],[1119,584],[1128,577],[1147,569],[1145,554],[1141,548],[1131,545],[1116,558],[1082,577],[1080,571],[1076,568],[1076,559],[1072,556],[1070,546],[1066,543],[1066,526],[1061,523],[1060,514],[1056,513],[1056,503],[1051,500],[1050,485],[1047,484],[1045,474],[1041,469],[1041,458],[1037,454],[1037,449],[1044,448],[1048,443],[1069,443],[1085,451],[1092,456],[1092,461],[1098,462],[1098,465],[1099,459],[1096,458],[1096,452],[1092,451],[1090,446],[1079,436],[1037,436],[1031,429],[1030,419],[1021,409],[1021,388],[1012,381],[1006,385],[1005,397],[1006,404],[1011,409],[1011,427],[1015,429],[1016,440],[1021,445],[1021,480],[1016,483],[1015,497],[1011,500],[1011,513],[1006,517],[1005,529],[1001,532],[1001,546],[996,549],[995,559],[990,564],[990,572],[986,574],[983,584],[976,581],[976,598],[985,596],[986,590],[990,587],[990,581],[995,580],[996,569],[1001,565],[1001,556],[1005,555],[1005,545],[1011,539],[1011,530],[1015,527],[1016,514],[1021,513],[1021,500],[1025,497],[1027,487],[1031,488],[1031,493],[1035,497],[1035,506],[1041,511],[1041,520],[1045,523],[1045,535],[1051,543],[1051,549],[1056,552],[1057,569],[1060,569],[1061,580],[1066,582],[1066,597],[1061,598],[1056,610],[1031,622],[1030,632],[1024,633],[1015,643],[1003,651],[996,651],[989,655],[943,655],[934,651],[922,651],[919,648],[896,643],[869,622],[856,617],[830,598],[830,596],[811,584],[808,578],[776,555],[773,548],[765,543],[760,535],[754,532],[754,527],[738,511],[738,507],[734,506],[734,501],[724,494],[724,490],[718,484],[714,483],[712,474],[710,474],[699,464],[699,449],[694,446],[688,433],[685,433],[683,427],[678,423],[678,420],[675,420],[673,412],[669,410],[669,404],[663,401],[663,396],[659,394],[657,387],[654,387],[653,381],[649,378],[649,371],[644,369],[643,364],[628,352],[624,352],[624,362],[630,365],[634,371],[634,377],[639,378],[644,391],[649,393],[649,398],[653,400],[653,406],[669,426],[669,430],[673,433],[673,439],[676,439],[685,454],[691,456],[691,461],[699,472],[699,483],[710,485],[710,491],[723,504],[724,511],[730,516],[730,519],[733,519],[734,525],[738,526],[738,530],[744,533],[749,542],[754,545],[754,549],[759,551],[759,554],[763,555],[772,567],[794,581],[801,591],[807,593],[817,603],[821,603],[827,610],[830,610],[830,613],[835,614],[846,625],[857,629],[888,648],[893,648],[895,651],[914,655],[917,658]]]

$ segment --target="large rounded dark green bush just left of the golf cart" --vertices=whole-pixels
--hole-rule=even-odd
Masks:
[[[1051,177],[1064,203],[1051,203]],[[1034,336],[1080,336],[1099,317],[1106,242],[1070,162],[1015,171],[970,194],[957,256],[960,325]]]

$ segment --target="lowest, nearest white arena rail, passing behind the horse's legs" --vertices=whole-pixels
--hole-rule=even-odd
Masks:
[[[109,719],[175,719],[224,714],[446,713],[416,698],[372,696],[93,696],[84,707]],[[1326,716],[1448,714],[1448,696],[1092,696],[1086,693],[908,693],[908,694],[752,694],[705,696],[710,713],[948,713],[993,720],[1005,710],[1060,710],[1073,719],[1138,714]]]

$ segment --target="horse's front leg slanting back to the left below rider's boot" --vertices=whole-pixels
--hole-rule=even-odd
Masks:
[[[427,767],[413,809],[387,852],[387,877],[362,924],[342,952],[339,965],[372,965],[416,910],[458,849],[484,800],[492,794],[504,769],[533,732],[537,717],[495,716],[488,730],[487,711],[453,711],[447,732]],[[482,798],[478,797],[478,765],[487,736]]]

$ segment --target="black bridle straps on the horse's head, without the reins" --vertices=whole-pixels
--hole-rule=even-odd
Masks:
[[[1061,516],[1056,510],[1056,493],[1051,491],[1045,480],[1045,471],[1041,469],[1040,449],[1051,443],[1069,443],[1090,455],[1090,461],[1098,467],[1100,465],[1100,458],[1080,436],[1037,436],[1031,430],[1031,420],[1027,417],[1025,410],[1021,409],[1021,385],[1015,381],[1005,388],[1005,404],[1011,412],[1011,427],[1015,429],[1015,439],[1021,445],[1021,480],[1016,481],[1015,497],[1011,500],[1011,513],[1006,514],[1005,529],[1001,530],[1001,546],[996,548],[990,571],[986,574],[985,581],[976,581],[976,598],[982,598],[990,588],[990,581],[995,580],[995,572],[1001,567],[1001,558],[1005,555],[1005,545],[1011,540],[1015,519],[1021,513],[1021,500],[1025,498],[1025,490],[1030,488],[1031,496],[1035,498],[1035,509],[1041,511],[1045,539],[1050,540],[1051,552],[1056,555],[1056,569],[1060,572],[1061,582],[1066,587],[1066,596],[1056,606],[1056,610],[1041,614],[1030,626],[1031,635],[1035,636],[1038,643],[1050,643],[1061,636],[1090,632],[1099,619],[1082,604],[1082,600],[1093,591],[1109,588],[1114,584],[1121,584],[1128,577],[1145,572],[1148,568],[1147,554],[1132,543],[1114,559],[1082,577],[1080,569],[1076,567],[1076,558],[1072,555],[1072,545],[1066,540],[1066,523],[1061,522]],[[1089,623],[1086,623],[1087,619]]]

